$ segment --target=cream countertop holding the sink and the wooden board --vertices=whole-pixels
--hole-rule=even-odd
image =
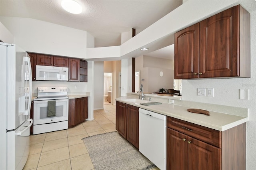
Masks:
[[[133,97],[128,97],[128,96],[120,97],[116,99],[116,101],[120,101],[122,103],[126,103],[129,105],[140,107],[142,109],[160,113],[162,115],[174,117],[183,121],[188,121],[190,123],[195,123],[197,125],[201,125],[204,127],[208,127],[208,128],[212,128],[220,131],[227,130],[229,128],[235,127],[237,125],[240,125],[248,121],[248,117],[220,113],[220,112],[215,112],[210,110],[208,110],[210,112],[210,116],[191,113],[191,112],[188,112],[187,109],[192,109],[193,107],[174,105],[170,103],[161,102],[162,103],[161,105],[144,106],[144,105],[140,105],[140,103],[149,102],[149,101],[142,101],[140,99],[134,100]],[[193,108],[193,109],[200,109],[200,108]]]

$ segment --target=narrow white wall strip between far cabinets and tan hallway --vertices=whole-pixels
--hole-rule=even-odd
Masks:
[[[104,62],[94,61],[94,110],[103,109]]]

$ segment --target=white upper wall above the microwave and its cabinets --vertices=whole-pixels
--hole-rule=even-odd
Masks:
[[[86,31],[31,18],[1,16],[1,22],[25,51],[86,58]]]

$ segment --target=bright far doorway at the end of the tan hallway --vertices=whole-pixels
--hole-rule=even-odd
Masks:
[[[103,86],[103,103],[104,105],[111,105],[112,103],[112,73],[104,73]]]

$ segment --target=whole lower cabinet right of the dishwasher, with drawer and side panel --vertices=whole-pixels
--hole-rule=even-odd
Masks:
[[[245,170],[246,123],[223,132],[167,117],[167,170]]]

